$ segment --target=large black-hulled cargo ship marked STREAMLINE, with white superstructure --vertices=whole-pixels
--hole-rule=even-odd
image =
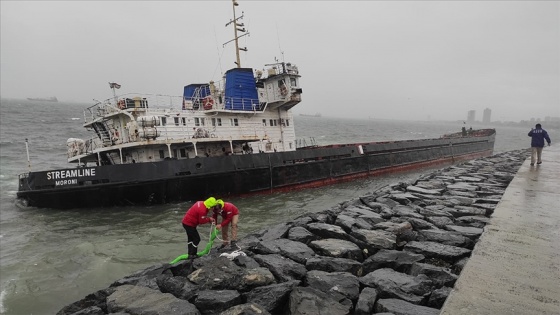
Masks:
[[[17,197],[45,208],[192,201],[317,187],[493,154],[495,130],[440,138],[298,145],[292,108],[302,100],[295,64],[237,67],[182,95],[117,95],[84,110],[89,139],[67,141],[74,167],[19,175]],[[241,33],[240,33],[241,32]]]

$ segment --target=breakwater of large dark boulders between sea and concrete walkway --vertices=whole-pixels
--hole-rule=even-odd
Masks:
[[[151,266],[58,314],[439,314],[527,156],[390,185],[248,235],[243,254]]]

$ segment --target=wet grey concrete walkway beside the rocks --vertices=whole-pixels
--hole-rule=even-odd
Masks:
[[[560,314],[560,145],[509,184],[440,314]]]

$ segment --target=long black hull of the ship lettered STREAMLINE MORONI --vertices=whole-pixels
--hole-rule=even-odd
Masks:
[[[66,169],[57,170],[67,172],[57,179],[52,179],[54,171],[32,172],[20,177],[17,196],[29,206],[67,209],[274,192],[488,156],[493,154],[494,137],[491,133],[361,144],[362,150],[356,144],[108,165],[79,172]]]

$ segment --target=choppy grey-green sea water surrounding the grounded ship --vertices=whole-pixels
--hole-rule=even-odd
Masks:
[[[25,208],[16,202],[17,175],[31,166],[67,166],[66,140],[88,138],[87,104],[2,100],[0,105],[0,313],[53,314],[85,295],[147,266],[168,262],[186,246],[181,219],[190,203],[82,210]],[[302,105],[304,106],[304,105]],[[79,118],[79,119],[78,119]],[[294,118],[298,137],[319,144],[437,138],[456,123]],[[479,126],[473,126],[476,128]],[[527,128],[497,127],[495,153],[526,148]],[[549,130],[557,139],[558,131]],[[545,152],[546,154],[546,152]],[[305,212],[328,209],[430,170],[369,178],[317,189],[232,198],[240,236]],[[199,228],[204,245],[208,227]]]

